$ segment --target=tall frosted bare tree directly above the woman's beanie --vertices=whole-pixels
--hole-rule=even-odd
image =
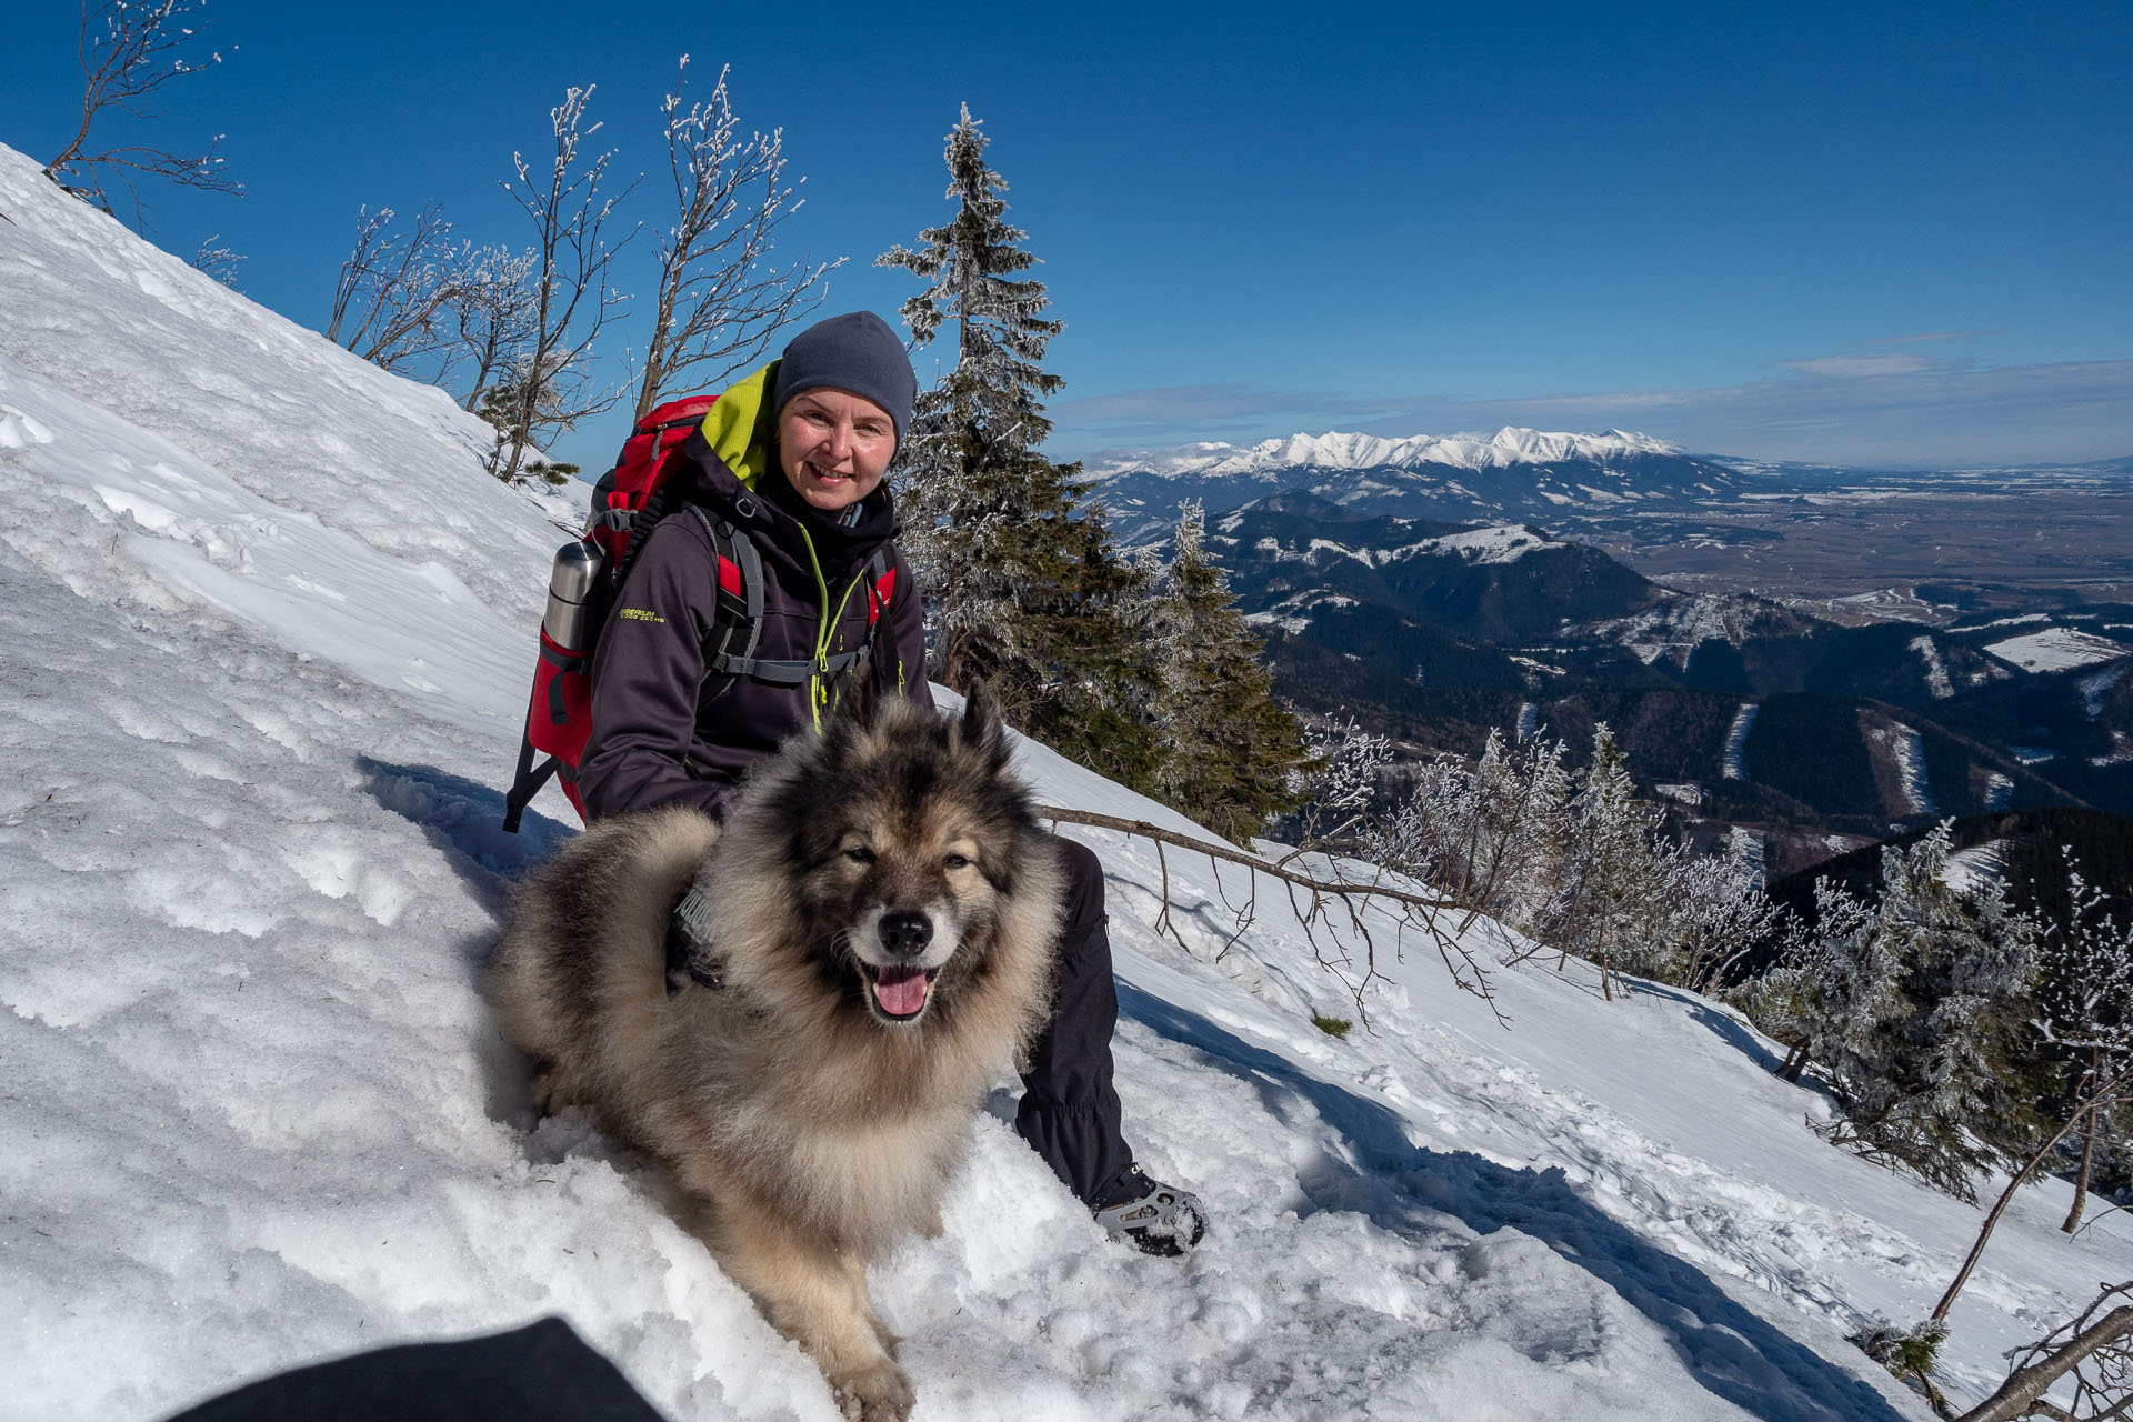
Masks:
[[[683,55],[661,102],[676,217],[659,235],[659,294],[636,420],[687,384],[717,384],[753,362],[779,326],[821,301],[823,277],[843,264],[770,262],[779,226],[802,200],[798,183],[785,183],[785,130],[742,136],[727,72],[719,70],[710,98],[683,109]],[[706,367],[710,375],[697,377]]]

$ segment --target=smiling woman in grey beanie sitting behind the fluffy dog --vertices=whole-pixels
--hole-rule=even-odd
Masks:
[[[665,478],[680,512],[642,537],[593,663],[593,733],[578,763],[591,817],[661,804],[719,817],[749,765],[819,727],[840,676],[870,676],[883,693],[932,706],[924,610],[881,482],[915,399],[917,377],[887,322],[832,316],[725,390],[674,454],[680,467]],[[806,672],[706,680],[717,522],[761,556],[753,659]],[[1111,1234],[1184,1254],[1201,1239],[1201,1202],[1150,1181],[1120,1134],[1103,868],[1086,846],[1058,844],[1069,876],[1058,991],[1022,1077],[1015,1128]]]

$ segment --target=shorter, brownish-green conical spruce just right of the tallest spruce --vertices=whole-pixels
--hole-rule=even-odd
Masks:
[[[1150,614],[1162,746],[1156,791],[1222,838],[1248,844],[1269,817],[1297,808],[1293,780],[1308,748],[1303,727],[1273,699],[1265,648],[1237,612],[1205,533],[1201,505],[1182,505]]]

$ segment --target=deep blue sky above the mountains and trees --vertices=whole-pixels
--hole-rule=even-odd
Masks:
[[[156,132],[226,132],[245,196],[151,190],[151,235],[220,232],[239,286],[314,326],[363,203],[518,241],[495,181],[572,83],[661,220],[687,51],[783,126],[808,196],[787,247],[853,258],[825,311],[915,290],[870,260],[947,215],[968,100],[1066,322],[1062,456],[1499,424],[1869,465],[2133,454],[2118,0],[209,15],[226,62]],[[73,132],[75,30],[49,0],[11,19],[0,141]]]

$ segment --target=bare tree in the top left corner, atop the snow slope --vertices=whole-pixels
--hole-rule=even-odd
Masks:
[[[113,143],[98,147],[90,132],[113,113],[151,122],[149,107],[156,94],[173,83],[222,64],[220,51],[207,58],[190,58],[198,51],[198,41],[207,30],[201,11],[207,0],[98,0],[81,4],[81,38],[75,47],[81,60],[81,128],[45,164],[45,177],[66,192],[94,203],[107,213],[111,207],[111,183],[126,188],[134,207],[134,222],[141,220],[141,194],[134,175],[169,179],[181,188],[205,188],[207,192],[243,192],[222,171],[222,134],[207,141],[201,151],[173,153],[154,143]],[[109,126],[109,124],[107,124]]]

